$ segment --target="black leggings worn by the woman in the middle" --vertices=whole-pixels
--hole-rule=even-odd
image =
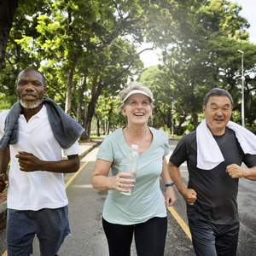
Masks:
[[[135,225],[111,224],[102,218],[110,256],[130,256],[134,232],[137,256],[162,256],[165,252],[167,218],[150,218]]]

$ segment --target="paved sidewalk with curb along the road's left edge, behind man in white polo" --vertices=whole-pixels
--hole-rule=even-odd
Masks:
[[[81,154],[79,154],[80,160],[84,158],[86,154],[88,154],[93,148],[96,148],[98,145],[100,145],[103,141],[103,138],[96,138],[93,139],[90,142],[86,143],[79,143],[81,148]],[[6,217],[7,217],[7,189],[3,191],[3,193],[0,194],[0,230],[3,230],[3,228],[6,226]]]

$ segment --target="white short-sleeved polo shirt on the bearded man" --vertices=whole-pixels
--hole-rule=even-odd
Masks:
[[[9,110],[0,113],[0,137],[3,136],[4,120]],[[40,160],[57,161],[62,154],[80,154],[79,143],[63,149],[57,143],[49,125],[45,106],[28,122],[23,114],[19,118],[18,143],[10,145],[11,166],[9,170],[8,208],[38,211],[43,208],[67,206],[67,195],[62,173],[22,172],[15,154],[26,151]]]

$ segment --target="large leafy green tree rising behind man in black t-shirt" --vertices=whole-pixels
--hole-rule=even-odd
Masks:
[[[239,96],[241,56],[237,49],[246,52],[247,48],[247,55],[251,55],[247,71],[255,68],[255,45],[247,40],[249,25],[239,15],[240,10],[228,1],[204,1],[197,8],[191,3],[177,42],[163,44],[163,68],[174,80],[176,111],[183,108],[184,113],[186,108],[194,127],[201,121],[202,100],[208,90],[219,87],[229,90],[235,99]],[[240,103],[236,101],[235,109]]]

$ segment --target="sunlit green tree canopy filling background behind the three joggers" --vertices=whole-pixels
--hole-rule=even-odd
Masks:
[[[256,72],[256,47],[240,11],[225,0],[20,0],[0,76],[1,109],[16,101],[17,74],[35,67],[45,75],[49,97],[84,125],[84,140],[94,117],[107,131],[125,124],[118,94],[135,77],[154,92],[156,128],[170,128],[173,114],[177,134],[184,124],[195,129],[213,87],[230,91],[233,118],[241,122],[241,49],[246,120],[255,125],[256,82],[248,74]],[[144,42],[162,50],[159,66],[143,68],[138,48]]]

